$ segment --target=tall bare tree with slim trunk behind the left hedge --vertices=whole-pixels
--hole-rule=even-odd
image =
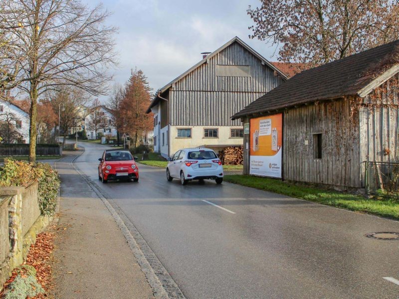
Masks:
[[[106,70],[115,61],[114,27],[106,26],[109,13],[101,5],[89,9],[79,0],[8,0],[1,11],[4,26],[10,29],[5,38],[16,36],[17,57],[24,58],[7,89],[17,87],[29,94],[30,148],[34,161],[37,100],[48,90],[75,86],[93,95],[106,94],[110,76]],[[13,11],[23,10],[20,26],[12,28],[9,19],[18,17]],[[19,58],[20,59],[20,58]],[[4,62],[13,65],[15,57]]]

